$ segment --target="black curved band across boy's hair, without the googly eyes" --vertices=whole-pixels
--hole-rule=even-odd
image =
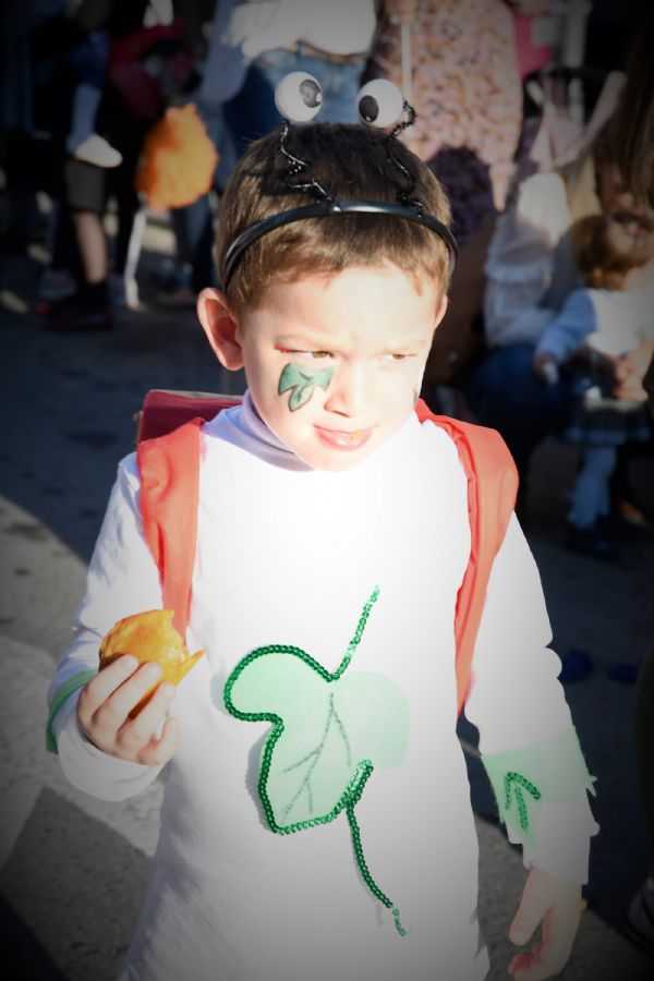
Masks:
[[[289,208],[287,211],[279,211],[277,215],[270,215],[262,221],[256,221],[245,231],[241,232],[225,254],[222,265],[222,283],[223,290],[227,290],[232,274],[239,264],[243,253],[253,242],[261,239],[276,228],[282,225],[290,225],[291,221],[300,221],[302,218],[323,218],[327,215],[391,215],[393,218],[405,218],[408,221],[415,221],[417,225],[424,225],[440,235],[449,252],[450,276],[453,272],[457,262],[457,240],[452,235],[449,228],[434,218],[426,215],[420,205],[396,204],[389,201],[331,201],[327,198],[316,204],[303,205],[298,208]]]

